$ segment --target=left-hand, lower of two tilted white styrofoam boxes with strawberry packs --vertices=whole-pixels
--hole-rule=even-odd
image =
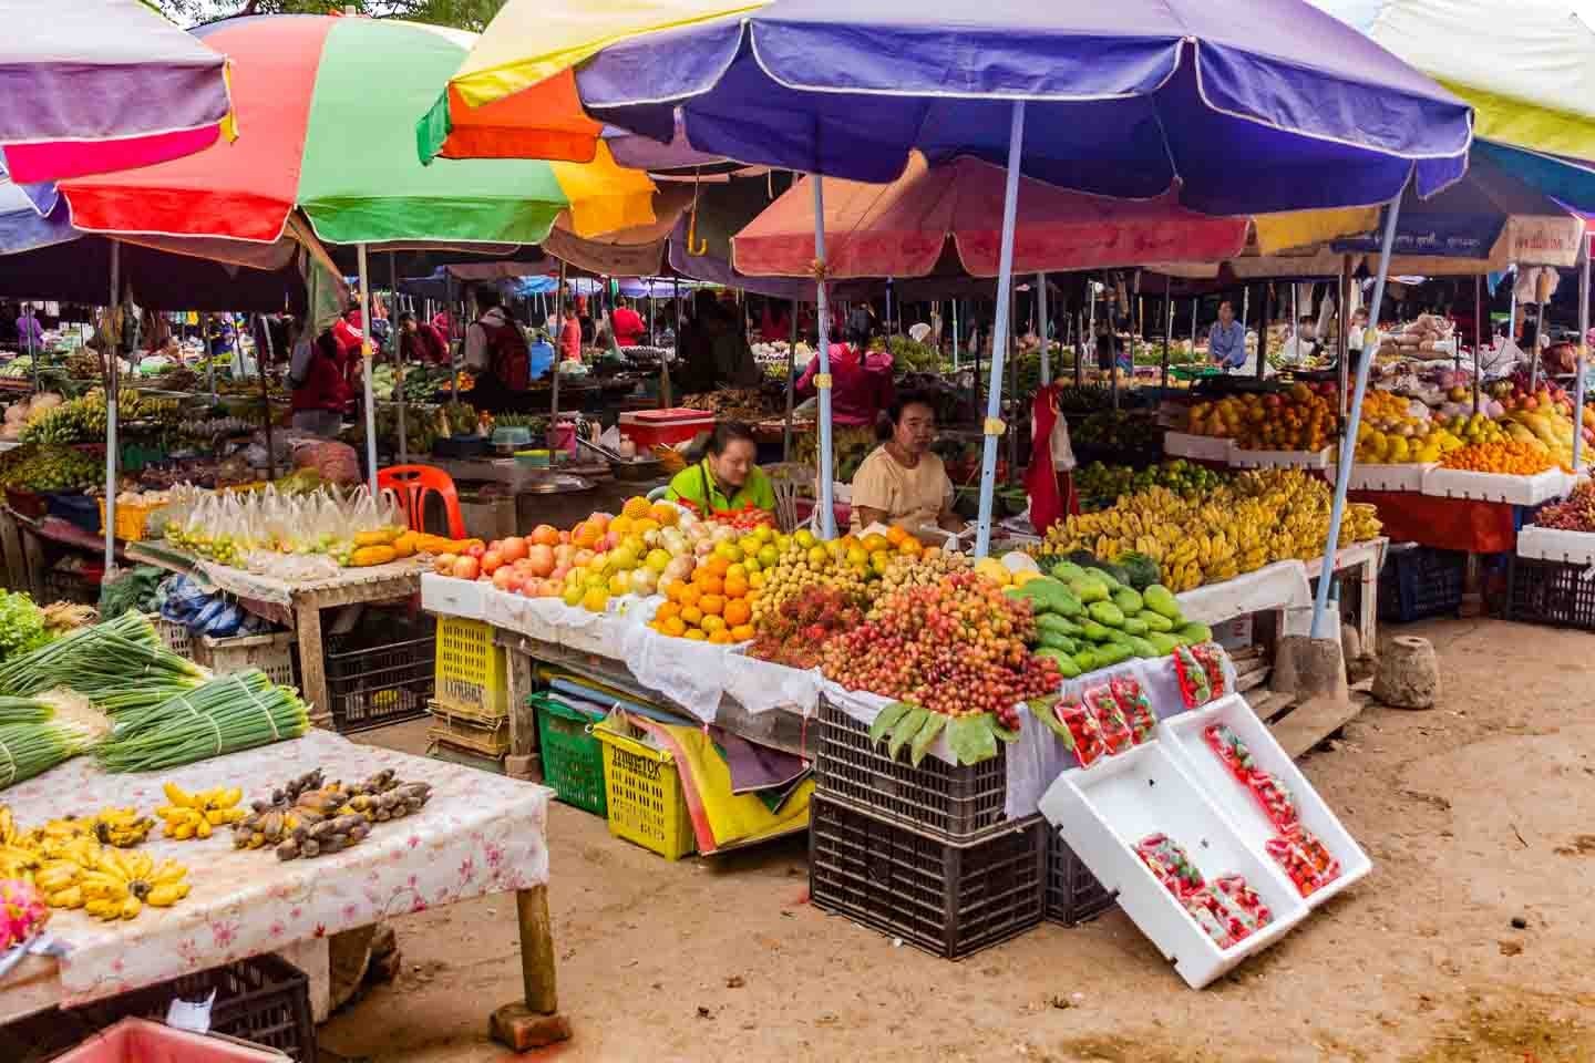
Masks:
[[[1306,904],[1284,872],[1250,849],[1161,741],[1065,771],[1042,797],[1040,808],[1193,990],[1268,948],[1306,916]],[[1274,921],[1219,948],[1136,856],[1136,843],[1152,834],[1182,845],[1209,881],[1244,875]]]

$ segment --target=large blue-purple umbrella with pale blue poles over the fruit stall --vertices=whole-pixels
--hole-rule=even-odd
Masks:
[[[679,120],[692,148],[743,163],[887,182],[916,148],[1006,161],[976,553],[990,540],[1021,169],[1120,198],[1177,185],[1207,214],[1392,201],[1394,218],[1408,180],[1432,194],[1461,177],[1472,137],[1463,102],[1300,0],[774,0],[612,45],[576,84],[593,118],[662,142]],[[818,180],[813,194],[818,228]],[[823,231],[815,250],[823,271]],[[825,384],[823,284],[818,298]],[[826,387],[820,408],[829,534]]]

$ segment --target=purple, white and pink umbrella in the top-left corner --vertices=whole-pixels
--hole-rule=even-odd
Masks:
[[[0,151],[18,182],[145,166],[217,142],[225,54],[140,0],[10,0]]]

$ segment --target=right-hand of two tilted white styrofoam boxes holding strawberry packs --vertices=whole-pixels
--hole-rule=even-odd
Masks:
[[[1279,834],[1263,814],[1263,806],[1252,792],[1241,786],[1223,762],[1219,760],[1203,732],[1212,724],[1227,724],[1236,736],[1252,751],[1252,760],[1258,768],[1273,771],[1274,776],[1289,787],[1297,798],[1297,810],[1302,813],[1302,826],[1311,830],[1340,861],[1340,878],[1329,883],[1311,897],[1306,897],[1309,908],[1316,908],[1340,891],[1373,870],[1373,861],[1362,851],[1356,838],[1341,826],[1340,818],[1330,811],[1324,798],[1317,795],[1313,784],[1306,781],[1295,762],[1279,747],[1273,733],[1263,727],[1252,708],[1241,695],[1228,695],[1195,712],[1183,712],[1158,724],[1161,738],[1174,749],[1191,778],[1211,797],[1230,821],[1239,827],[1243,840],[1273,864],[1265,843]],[[1286,877],[1289,880],[1289,875]]]

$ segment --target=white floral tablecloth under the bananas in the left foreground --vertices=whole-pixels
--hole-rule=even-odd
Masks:
[[[166,773],[105,775],[91,757],[80,757],[0,792],[0,802],[30,827],[105,805],[153,813],[166,803],[161,784],[167,779],[188,790],[239,786],[246,802],[255,800],[314,768],[329,783],[392,768],[405,781],[431,783],[432,798],[418,814],[376,824],[359,845],[313,861],[282,862],[270,848],[234,849],[230,830],[204,841],[171,841],[152,830],[148,851],[187,864],[193,892],[172,908],[145,908],[126,923],[56,912],[49,928],[70,951],[59,961],[29,956],[0,982],[0,1023],[388,916],[549,881],[544,832],[552,790],[357,746],[324,730]]]

